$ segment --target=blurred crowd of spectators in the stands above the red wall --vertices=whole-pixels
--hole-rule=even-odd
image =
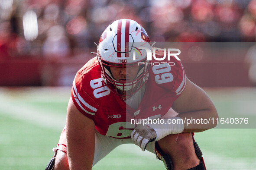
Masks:
[[[0,58],[77,56],[123,18],[156,42],[256,40],[256,0],[0,0]]]

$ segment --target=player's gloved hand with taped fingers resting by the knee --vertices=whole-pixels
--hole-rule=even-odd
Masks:
[[[145,151],[147,144],[156,140],[156,131],[147,125],[138,125],[131,133],[131,138],[135,145]]]

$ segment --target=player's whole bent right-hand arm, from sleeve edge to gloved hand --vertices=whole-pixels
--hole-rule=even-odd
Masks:
[[[217,125],[217,110],[208,95],[197,85],[186,78],[187,84],[172,105],[172,109],[178,114],[176,117],[168,117],[163,124],[147,123],[145,126],[137,126],[131,133],[131,138],[136,145],[144,151],[148,142],[158,141],[169,134],[181,132],[201,132]],[[180,119],[183,120],[180,121]],[[211,121],[206,124],[187,124],[188,120]],[[169,122],[172,120],[172,123]],[[186,120],[186,121],[185,121]],[[173,122],[176,122],[174,124]],[[180,122],[180,123],[178,123]]]

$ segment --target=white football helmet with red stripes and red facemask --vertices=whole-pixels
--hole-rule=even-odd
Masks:
[[[150,39],[144,28],[130,19],[114,21],[100,37],[97,59],[100,64],[101,77],[104,84],[118,95],[134,94],[148,79],[149,61],[146,57],[146,50],[139,50],[139,47],[151,49]],[[139,65],[139,62],[144,64]],[[128,68],[138,65],[139,71],[132,81],[118,82],[110,71],[110,66]],[[136,89],[133,89],[135,87]]]

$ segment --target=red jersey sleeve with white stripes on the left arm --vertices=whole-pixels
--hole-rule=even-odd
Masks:
[[[86,93],[82,85],[83,75],[79,72],[76,74],[73,81],[73,86],[71,90],[71,98],[78,108],[78,110],[85,116],[93,119],[95,113],[97,112],[98,105],[91,97]],[[87,88],[87,90],[90,88]]]

